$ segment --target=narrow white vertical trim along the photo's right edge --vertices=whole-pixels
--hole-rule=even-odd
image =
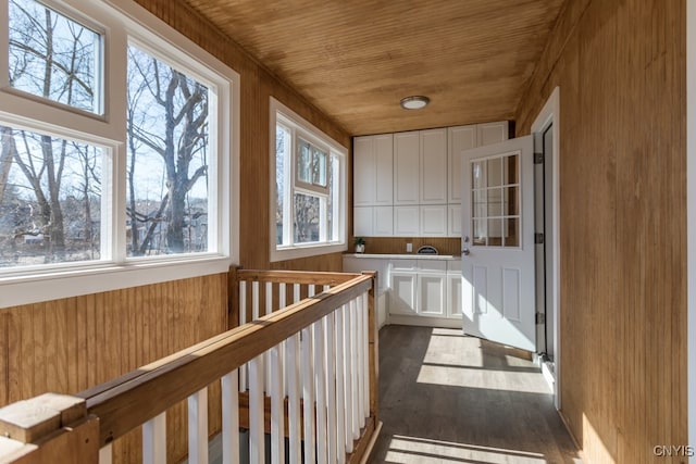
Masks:
[[[686,321],[687,428],[696,446],[696,4],[686,2]],[[696,456],[688,460],[696,463]]]

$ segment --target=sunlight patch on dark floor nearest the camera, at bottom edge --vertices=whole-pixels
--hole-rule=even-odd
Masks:
[[[395,435],[386,463],[542,464],[543,454]]]

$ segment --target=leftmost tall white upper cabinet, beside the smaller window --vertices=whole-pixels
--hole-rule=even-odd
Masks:
[[[353,204],[393,204],[394,136],[356,137],[353,140]]]

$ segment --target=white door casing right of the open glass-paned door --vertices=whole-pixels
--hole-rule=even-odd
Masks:
[[[544,108],[536,116],[532,124],[532,133],[544,133],[544,130],[552,124],[551,134],[554,136],[554,154],[551,159],[551,237],[552,237],[552,261],[551,261],[551,301],[549,309],[554,312],[554,369],[556,373],[556,383],[554,384],[554,403],[556,409],[561,409],[561,308],[560,308],[560,226],[559,226],[559,170],[558,160],[560,158],[560,98],[559,89],[556,87],[548,98]],[[548,205],[547,205],[548,206]]]

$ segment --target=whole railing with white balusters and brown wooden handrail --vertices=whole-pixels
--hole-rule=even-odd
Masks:
[[[188,398],[188,462],[207,463],[209,437],[216,431],[208,429],[208,386],[219,379],[225,463],[240,462],[239,450],[246,448],[240,428],[249,431],[250,463],[265,462],[266,439],[272,463],[355,462],[369,452],[378,431],[374,275],[236,269],[232,275],[237,327],[66,397],[73,403],[84,399],[69,428],[88,423],[99,443],[89,451],[91,460],[82,453],[75,462],[111,463],[113,440],[142,425],[142,462],[165,463],[166,410]],[[0,410],[0,431],[16,417],[12,406],[9,419]],[[13,439],[8,440],[21,441]]]

